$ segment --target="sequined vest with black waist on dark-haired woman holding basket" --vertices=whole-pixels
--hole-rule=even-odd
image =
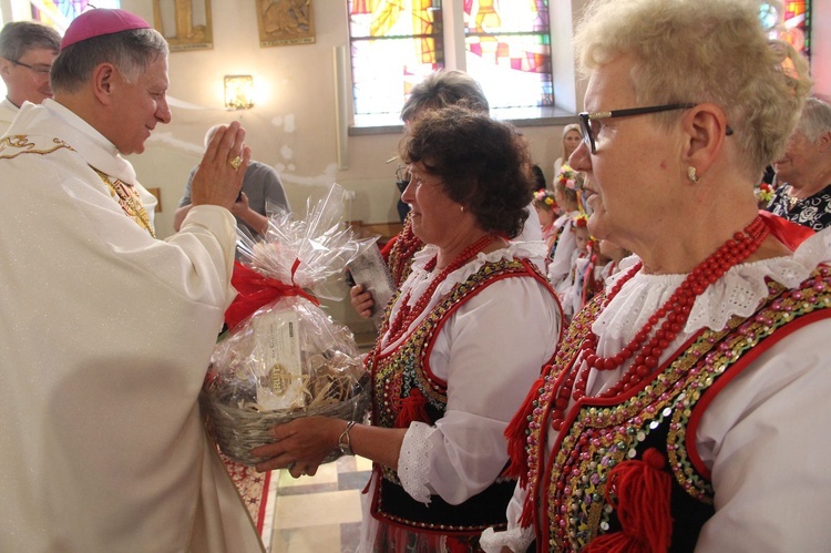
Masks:
[[[489,262],[465,281],[456,284],[394,351],[384,356],[376,356],[373,351],[368,356],[373,424],[407,428],[413,420],[434,424],[443,417],[447,382],[435,378],[428,366],[435,338],[444,322],[468,299],[500,279],[515,277],[535,278],[554,296],[545,277],[526,259]],[[378,348],[376,345],[376,350]],[[516,485],[514,480],[500,478],[458,505],[447,503],[439,495],[432,495],[430,504],[424,505],[403,490],[396,471],[380,465],[375,470],[381,477],[372,500],[376,519],[419,532],[471,536],[478,536],[489,526],[506,526],[505,509]]]

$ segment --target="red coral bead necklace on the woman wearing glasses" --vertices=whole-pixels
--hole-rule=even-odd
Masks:
[[[575,378],[577,370],[573,369],[563,379],[563,383],[557,390],[552,406],[552,427],[557,431],[561,429],[570,399],[577,401],[585,397],[591,369],[601,371],[614,370],[634,357],[629,369],[617,383],[599,395],[602,398],[613,398],[628,391],[649,376],[658,367],[664,350],[669,347],[678,332],[684,329],[696,298],[704,294],[711,284],[721,278],[730,267],[745,262],[753,252],[759,249],[759,246],[761,246],[768,234],[768,226],[759,216],[743,232],[736,233],[732,238],[727,240],[687,275],[669,299],[649,317],[646,324],[635,332],[635,337],[629,344],[618,354],[611,357],[599,357],[597,355],[597,335],[589,330],[581,345],[581,354],[582,359],[585,361],[585,367],[579,371],[579,377]],[[630,280],[640,270],[642,266],[638,263],[615,283],[606,295],[603,308],[617,296],[624,284]],[[658,330],[653,334],[653,329],[658,325]]]

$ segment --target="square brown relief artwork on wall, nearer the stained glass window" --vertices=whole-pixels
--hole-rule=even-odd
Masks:
[[[311,0],[256,0],[260,47],[315,42]]]

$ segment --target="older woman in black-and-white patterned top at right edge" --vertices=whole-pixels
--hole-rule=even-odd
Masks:
[[[773,167],[779,187],[767,209],[814,231],[831,226],[831,105],[808,99]]]

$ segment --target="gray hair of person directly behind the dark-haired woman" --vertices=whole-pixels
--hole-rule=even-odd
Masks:
[[[475,79],[463,71],[438,71],[424,78],[410,91],[401,109],[401,120],[412,121],[424,110],[461,105],[475,112],[488,113],[488,99]]]

